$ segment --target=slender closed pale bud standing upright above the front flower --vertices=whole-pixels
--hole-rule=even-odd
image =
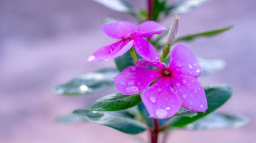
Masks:
[[[177,35],[177,32],[178,32],[178,26],[179,26],[179,19],[180,17],[179,16],[175,16],[175,19],[172,23],[172,26],[170,26],[170,30],[169,30],[169,33],[168,33],[168,39],[167,39],[167,45],[168,46],[171,46],[175,40],[175,37]]]

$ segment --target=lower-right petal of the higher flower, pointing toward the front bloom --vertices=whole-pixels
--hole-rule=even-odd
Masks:
[[[133,46],[140,56],[147,60],[159,61],[158,51],[150,42],[143,38],[135,38],[134,40]]]

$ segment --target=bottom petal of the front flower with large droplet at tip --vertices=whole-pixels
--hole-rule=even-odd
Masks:
[[[181,107],[181,99],[170,87],[170,79],[162,77],[141,93],[141,100],[150,117],[165,119],[171,117]]]

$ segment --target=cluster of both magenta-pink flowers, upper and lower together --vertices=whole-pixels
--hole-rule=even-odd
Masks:
[[[132,46],[142,57],[135,66],[125,68],[114,79],[117,90],[125,95],[141,93],[141,100],[150,117],[171,117],[184,107],[204,112],[207,101],[203,87],[197,81],[201,74],[199,60],[183,44],[177,44],[170,52],[169,64],[160,62],[158,51],[143,38],[164,32],[159,23],[146,21],[137,28],[128,21],[107,23],[104,32],[118,42],[94,52],[88,61],[108,60],[125,54]]]

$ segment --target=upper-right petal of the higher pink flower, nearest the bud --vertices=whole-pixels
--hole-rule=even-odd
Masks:
[[[166,28],[155,21],[145,21],[139,25],[138,31],[141,37],[151,38],[153,34],[162,34]]]

